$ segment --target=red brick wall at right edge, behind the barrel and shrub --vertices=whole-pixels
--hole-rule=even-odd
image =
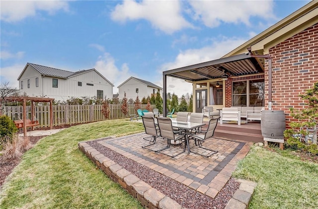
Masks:
[[[300,32],[269,50],[272,57],[272,109],[284,110],[287,124],[289,108],[304,108],[299,94],[318,81],[318,24]],[[268,61],[265,64],[265,104],[268,104]]]

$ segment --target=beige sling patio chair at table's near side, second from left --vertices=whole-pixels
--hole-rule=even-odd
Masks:
[[[158,117],[158,126],[160,130],[160,136],[167,140],[167,146],[164,148],[161,148],[157,152],[160,153],[160,151],[163,151],[165,149],[168,149],[170,145],[182,145],[182,139],[185,140],[185,134],[178,135],[179,132],[176,132],[172,128],[172,121],[169,118],[166,117]],[[185,144],[184,149],[182,152],[177,153],[176,155],[168,155],[166,153],[162,153],[163,155],[169,156],[169,157],[176,157],[182,153],[185,152]]]

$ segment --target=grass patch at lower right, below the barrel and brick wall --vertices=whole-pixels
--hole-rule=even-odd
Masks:
[[[317,209],[318,164],[251,147],[234,177],[257,182],[249,209]]]

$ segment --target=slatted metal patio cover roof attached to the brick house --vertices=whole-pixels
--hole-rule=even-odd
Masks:
[[[250,53],[243,53],[163,71],[163,75],[193,82],[263,73],[263,68],[264,67],[261,66],[256,58],[252,57]]]

